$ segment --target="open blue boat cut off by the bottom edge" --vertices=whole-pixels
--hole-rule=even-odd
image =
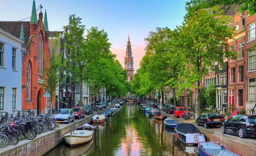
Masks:
[[[200,153],[200,156],[242,156],[219,143],[213,142],[199,142],[198,152]]]

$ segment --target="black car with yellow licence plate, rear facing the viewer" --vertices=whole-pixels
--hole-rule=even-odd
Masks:
[[[203,125],[208,129],[209,126],[220,126],[225,118],[219,113],[203,113],[197,118],[197,125]]]

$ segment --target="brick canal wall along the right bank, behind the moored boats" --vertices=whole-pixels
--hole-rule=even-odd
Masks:
[[[175,118],[170,114],[161,111],[161,114],[166,115],[179,123],[193,123],[195,120],[181,120]],[[216,142],[224,145],[226,148],[241,154],[242,156],[256,156],[256,139],[252,138],[240,138],[235,135],[222,134],[219,131],[215,131],[211,128],[205,129],[203,126],[196,126],[209,140],[210,142]]]

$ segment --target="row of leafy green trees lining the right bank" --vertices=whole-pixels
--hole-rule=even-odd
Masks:
[[[133,93],[148,95],[158,90],[162,92],[163,103],[163,91],[172,90],[176,105],[176,97],[194,87],[198,89],[200,114],[200,83],[203,75],[208,75],[208,68],[218,70],[214,64],[223,65],[224,59],[237,55],[227,48],[227,39],[232,38],[232,28],[228,27],[229,19],[223,9],[214,6],[219,0],[211,0],[215,4],[208,1],[188,2],[182,26],[174,30],[158,27],[149,33],[145,39],[145,55],[132,80]],[[212,8],[203,9],[206,7]]]

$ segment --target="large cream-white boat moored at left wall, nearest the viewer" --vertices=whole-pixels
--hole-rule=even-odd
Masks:
[[[93,126],[85,124],[64,135],[64,140],[70,146],[75,146],[89,142],[93,137]]]

